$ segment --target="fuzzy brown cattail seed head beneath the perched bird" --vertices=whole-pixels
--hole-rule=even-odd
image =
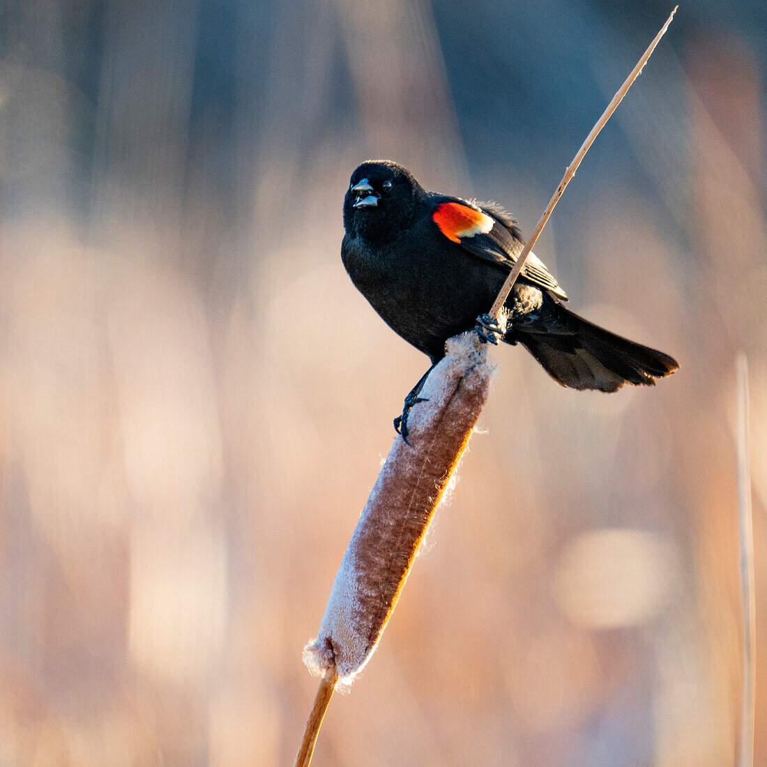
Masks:
[[[488,393],[492,364],[476,334],[451,338],[410,413],[410,443],[394,440],[333,584],[318,637],[304,648],[313,673],[341,684],[370,660],[423,535],[449,489]]]

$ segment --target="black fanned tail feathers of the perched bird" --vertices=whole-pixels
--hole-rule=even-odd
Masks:
[[[513,328],[506,340],[523,344],[564,387],[612,392],[627,383],[653,386],[679,367],[668,354],[606,331],[561,304],[548,309],[545,321]]]

